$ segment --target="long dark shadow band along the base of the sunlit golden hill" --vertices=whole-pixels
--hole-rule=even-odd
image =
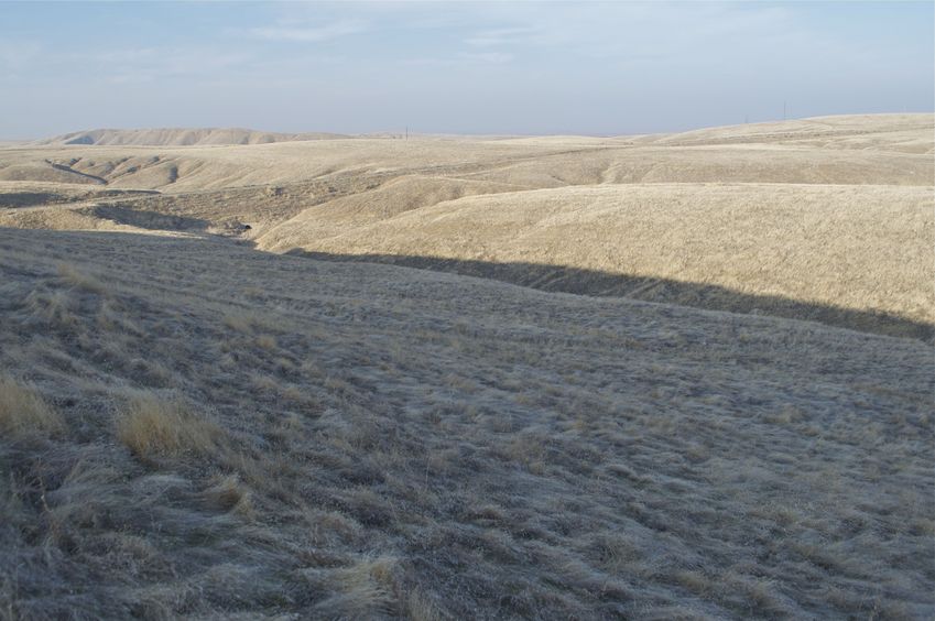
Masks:
[[[746,294],[709,284],[611,274],[596,270],[539,263],[492,263],[394,254],[330,254],[302,250],[291,250],[287,254],[307,257],[319,261],[389,263],[492,279],[543,291],[628,297],[730,313],[770,315],[818,322],[865,333],[914,338],[928,342],[935,340],[935,326],[889,313],[854,310],[775,295]]]

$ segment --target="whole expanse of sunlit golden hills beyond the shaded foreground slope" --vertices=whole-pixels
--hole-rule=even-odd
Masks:
[[[0,149],[0,179],[33,179],[0,181],[0,226],[214,233],[548,291],[935,333],[931,115],[619,139],[172,145],[200,135]],[[140,137],[163,145],[121,145]]]

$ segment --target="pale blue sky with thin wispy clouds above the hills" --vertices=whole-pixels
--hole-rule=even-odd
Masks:
[[[0,138],[619,135],[935,109],[933,2],[2,2]]]

